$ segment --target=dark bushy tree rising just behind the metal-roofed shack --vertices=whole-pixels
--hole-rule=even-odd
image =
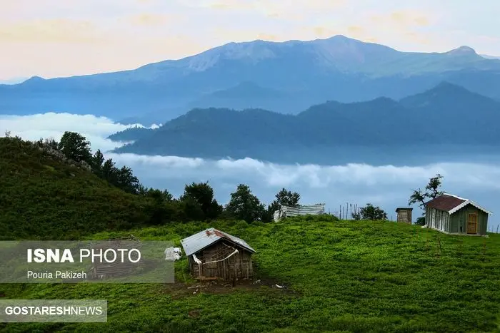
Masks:
[[[191,207],[196,203],[203,212],[204,219],[214,219],[222,212],[221,205],[214,198],[214,189],[211,188],[208,182],[186,185],[184,194],[181,195],[179,200],[186,201],[188,199],[190,199],[189,205],[186,205],[186,207]],[[197,212],[196,216],[198,216]]]

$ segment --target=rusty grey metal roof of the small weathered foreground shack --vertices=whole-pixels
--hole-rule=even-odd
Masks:
[[[231,242],[234,242],[240,245],[241,247],[244,247],[246,250],[249,250],[250,252],[255,252],[255,250],[252,249],[250,245],[246,244],[244,240],[229,235],[226,232],[216,230],[213,227],[184,238],[184,240],[181,240],[181,244],[182,247],[184,248],[184,252],[186,252],[186,255],[192,255],[198,252],[199,250],[203,250],[205,247],[214,244],[214,242],[222,238],[230,240]]]

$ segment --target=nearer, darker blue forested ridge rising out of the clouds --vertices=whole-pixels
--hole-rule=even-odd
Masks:
[[[442,82],[395,101],[328,101],[297,115],[262,109],[195,108],[154,130],[130,128],[117,153],[256,158],[278,163],[384,163],[386,157],[497,150],[500,103]],[[419,150],[416,152],[416,150]],[[406,160],[405,162],[408,162]]]

